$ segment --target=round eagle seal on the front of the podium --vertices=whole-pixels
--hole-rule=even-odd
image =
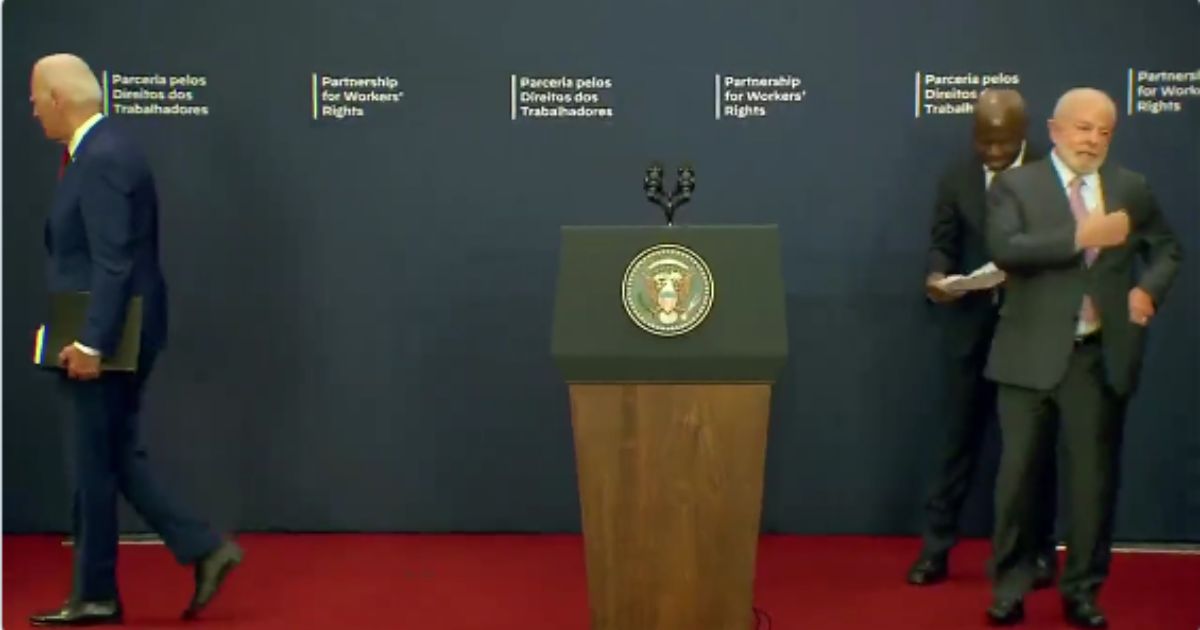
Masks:
[[[620,284],[625,313],[642,330],[661,337],[684,335],[708,317],[715,286],[696,252],[655,245],[637,254]]]

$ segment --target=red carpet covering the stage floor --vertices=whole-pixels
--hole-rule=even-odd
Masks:
[[[197,622],[178,620],[191,571],[158,546],[122,546],[128,628],[586,630],[583,548],[568,535],[245,535],[245,564]],[[904,583],[914,539],[764,536],[756,605],[772,630],[984,628],[984,541],[952,558],[952,581]],[[70,586],[58,538],[5,536],[4,628],[26,628]],[[1110,626],[1200,629],[1200,556],[1117,554],[1100,596]],[[1058,596],[1026,601],[1021,628],[1066,628]],[[636,630],[636,629],[630,629]],[[696,629],[704,630],[704,629]]]

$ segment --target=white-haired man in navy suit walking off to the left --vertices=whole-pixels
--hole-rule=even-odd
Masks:
[[[30,622],[121,622],[118,492],[162,536],[176,560],[194,565],[196,590],[184,611],[185,618],[194,617],[241,562],[242,551],[168,498],[138,437],[143,389],[167,338],[154,178],[142,151],[101,114],[100,83],[82,59],[43,58],[34,66],[30,92],[46,137],[67,150],[46,226],[49,290],[90,294],[79,338],[59,353],[76,463],[73,587],[61,608],[35,614]],[[102,358],[120,344],[126,310],[136,295],[143,304],[138,370],[101,371]]]

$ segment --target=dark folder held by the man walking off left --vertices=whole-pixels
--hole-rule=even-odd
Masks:
[[[84,322],[88,318],[88,293],[50,294],[49,322],[37,329],[34,340],[34,364],[42,367],[60,367],[59,352],[70,343],[79,341]],[[121,341],[112,356],[104,356],[100,362],[101,371],[134,372],[138,368],[138,353],[142,348],[142,296],[134,295],[125,311],[125,328]]]

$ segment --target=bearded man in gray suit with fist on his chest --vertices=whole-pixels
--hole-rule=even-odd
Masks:
[[[1096,598],[1109,571],[1126,406],[1146,326],[1182,258],[1146,180],[1105,163],[1116,116],[1104,92],[1068,91],[1050,120],[1050,158],[998,175],[988,197],[988,247],[1008,276],[988,360],[1003,438],[988,608],[997,625],[1024,618],[1054,424],[1070,514],[1063,613],[1080,628],[1108,625]]]

